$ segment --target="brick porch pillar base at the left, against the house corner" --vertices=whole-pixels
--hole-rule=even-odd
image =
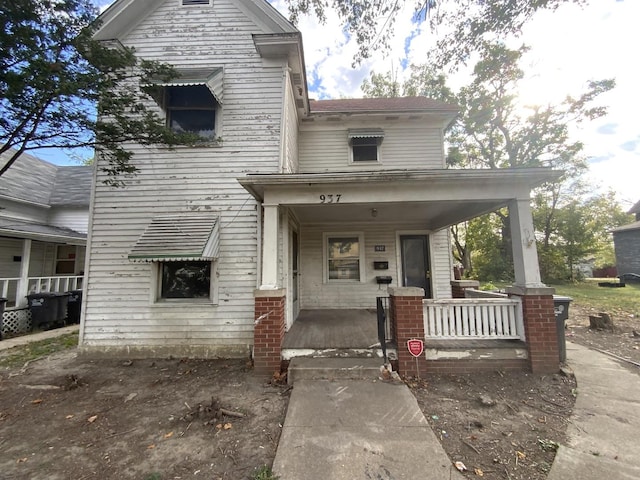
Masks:
[[[285,289],[256,290],[253,333],[254,371],[261,375],[280,372],[285,328]]]

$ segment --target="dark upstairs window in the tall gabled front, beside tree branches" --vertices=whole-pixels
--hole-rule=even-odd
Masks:
[[[167,87],[165,95],[167,123],[174,132],[215,136],[218,104],[206,86]]]

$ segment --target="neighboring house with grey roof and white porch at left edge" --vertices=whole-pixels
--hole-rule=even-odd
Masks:
[[[0,156],[2,165],[13,152]],[[92,167],[23,153],[0,177],[0,296],[6,316],[26,295],[82,286]]]

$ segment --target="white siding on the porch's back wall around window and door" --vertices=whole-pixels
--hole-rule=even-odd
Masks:
[[[300,230],[300,308],[375,308],[376,296],[387,296],[387,286],[378,285],[377,275],[393,277],[391,286],[398,286],[396,232],[419,230],[415,225],[344,225],[302,226]],[[323,233],[364,233],[364,282],[323,283]],[[432,289],[435,298],[449,298],[449,249],[443,248],[440,232],[430,235],[432,259]],[[384,252],[376,252],[375,245],[384,245]],[[388,261],[388,270],[374,270],[374,261]],[[448,292],[448,295],[447,295]]]

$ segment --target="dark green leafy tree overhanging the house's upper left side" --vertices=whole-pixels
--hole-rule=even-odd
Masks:
[[[120,185],[120,175],[136,171],[126,142],[197,141],[168,129],[139,88],[175,72],[132,49],[93,41],[97,13],[90,0],[3,3],[0,153],[12,155],[0,175],[28,150],[94,147],[108,160],[107,183]]]

